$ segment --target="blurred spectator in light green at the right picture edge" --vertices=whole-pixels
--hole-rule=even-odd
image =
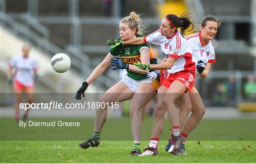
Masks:
[[[252,74],[247,77],[247,82],[244,84],[244,92],[247,101],[256,100],[256,81]]]

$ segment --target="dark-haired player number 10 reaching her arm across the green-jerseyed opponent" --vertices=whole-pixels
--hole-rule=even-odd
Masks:
[[[110,44],[122,43],[123,45],[151,43],[160,46],[162,53],[165,55],[164,61],[160,64],[134,64],[144,70],[166,70],[165,73],[161,75],[162,85],[158,93],[162,94],[158,94],[151,141],[141,156],[158,154],[157,144],[163,129],[163,127],[159,128],[159,125],[163,125],[166,109],[174,129],[174,141],[175,138],[180,136],[179,113],[174,105],[174,101],[181,98],[184,92],[191,91],[195,82],[196,59],[193,59],[191,48],[183,37],[184,31],[188,29],[190,25],[193,24],[187,15],[179,18],[174,14],[169,14],[161,21],[159,30],[156,30],[154,33],[144,38],[137,37],[124,42],[115,39],[111,42],[110,39],[107,42]],[[177,30],[178,27],[181,27],[181,32]],[[178,148],[179,146],[176,147]],[[174,150],[175,149],[174,147]]]

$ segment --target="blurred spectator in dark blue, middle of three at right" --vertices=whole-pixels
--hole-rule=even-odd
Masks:
[[[239,94],[240,88],[236,84],[236,76],[231,75],[229,76],[229,81],[224,82],[223,84],[223,92],[225,93],[229,106],[236,106],[237,105],[237,94]]]

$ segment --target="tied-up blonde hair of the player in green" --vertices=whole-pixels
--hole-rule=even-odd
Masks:
[[[128,24],[130,29],[136,28],[135,35],[143,35],[148,28],[148,25],[141,22],[140,15],[137,15],[134,11],[132,11],[129,16],[123,18],[120,23]]]

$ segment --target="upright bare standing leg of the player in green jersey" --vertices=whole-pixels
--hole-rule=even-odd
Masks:
[[[129,113],[134,141],[140,141],[141,118],[139,116],[139,110],[152,100],[156,93],[157,91],[155,87],[152,84],[145,82],[138,86],[137,92],[131,99]]]

